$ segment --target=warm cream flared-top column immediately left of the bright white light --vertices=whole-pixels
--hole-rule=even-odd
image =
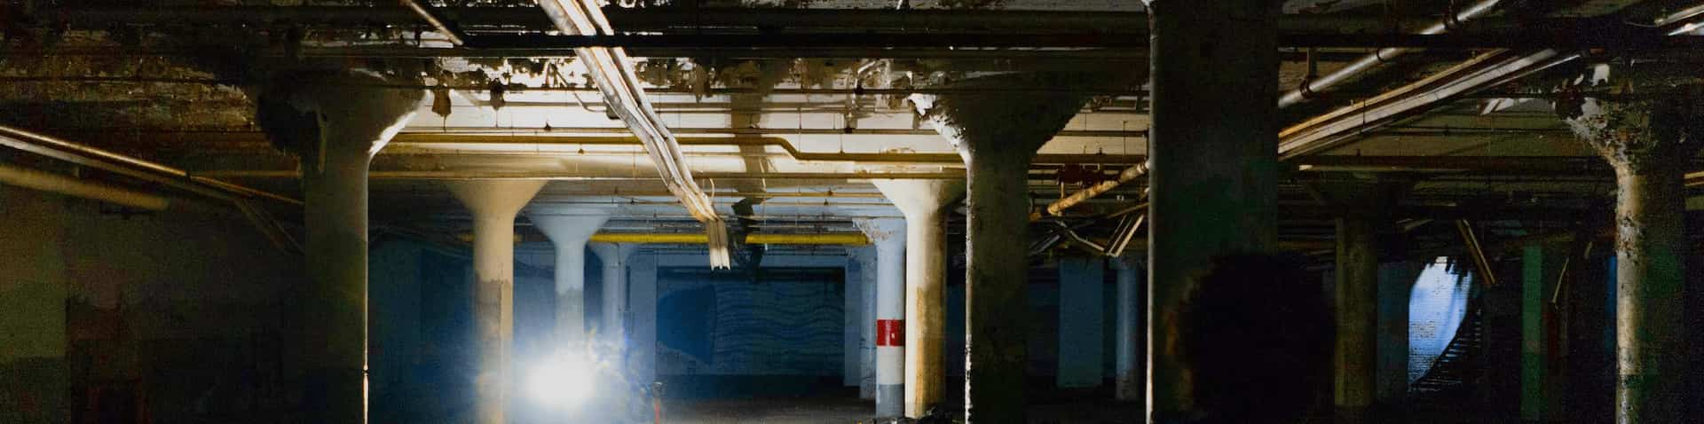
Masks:
[[[544,180],[457,180],[450,192],[474,213],[474,327],[479,332],[479,375],[474,378],[474,417],[504,424],[515,381],[509,347],[515,342],[515,213],[532,201]]]

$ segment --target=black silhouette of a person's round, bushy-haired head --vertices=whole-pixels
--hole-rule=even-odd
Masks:
[[[1177,310],[1195,422],[1300,422],[1331,380],[1331,307],[1300,261],[1217,257]]]

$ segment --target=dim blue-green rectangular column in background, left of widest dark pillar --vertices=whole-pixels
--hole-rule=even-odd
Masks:
[[[1056,385],[1099,387],[1106,317],[1106,278],[1099,257],[1060,259],[1060,358]]]

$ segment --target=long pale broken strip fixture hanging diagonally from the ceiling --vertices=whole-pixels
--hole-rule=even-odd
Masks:
[[[603,10],[598,9],[596,0],[542,0],[538,5],[564,34],[615,34],[608,19],[603,17]],[[731,267],[726,223],[716,213],[711,196],[699,189],[699,184],[692,179],[692,170],[687,167],[687,158],[680,150],[680,143],[675,141],[675,135],[668,131],[663,117],[656,114],[656,109],[644,97],[639,77],[629,65],[627,51],[622,48],[576,48],[574,56],[581,60],[591,80],[598,85],[603,100],[610,106],[608,111],[627,123],[634,136],[644,143],[646,153],[651,157],[651,162],[656,162],[668,192],[680,199],[692,218],[704,223],[711,250],[711,267]]]

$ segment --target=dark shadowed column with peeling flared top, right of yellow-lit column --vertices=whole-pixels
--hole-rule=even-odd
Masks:
[[[964,419],[1026,422],[1029,158],[1082,107],[1084,83],[1106,75],[1004,73],[951,83],[959,94],[912,104],[964,158]],[[1009,94],[1010,89],[1045,92]],[[982,89],[982,90],[978,90]]]

